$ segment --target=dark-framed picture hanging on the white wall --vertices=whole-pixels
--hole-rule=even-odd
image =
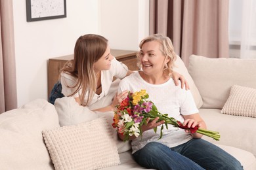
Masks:
[[[66,0],[26,0],[27,22],[66,18]]]

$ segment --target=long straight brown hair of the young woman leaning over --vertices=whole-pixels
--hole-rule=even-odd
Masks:
[[[85,94],[88,92],[85,105],[91,102],[96,92],[96,74],[93,65],[106,52],[107,46],[108,40],[100,35],[80,36],[75,43],[74,59],[68,61],[61,70],[77,78],[74,86],[68,86],[68,88],[75,88],[75,92],[69,96],[81,90],[79,99],[84,103]]]

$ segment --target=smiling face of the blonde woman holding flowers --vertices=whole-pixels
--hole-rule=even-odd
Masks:
[[[162,74],[165,63],[169,61],[161,52],[161,44],[158,41],[145,42],[139,53],[140,64],[146,75]]]

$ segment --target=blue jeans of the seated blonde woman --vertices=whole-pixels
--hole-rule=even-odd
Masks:
[[[139,165],[151,169],[243,169],[236,158],[203,139],[191,139],[173,148],[151,142],[133,157]]]

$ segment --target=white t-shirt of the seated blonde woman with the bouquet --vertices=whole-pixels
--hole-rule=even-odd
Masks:
[[[163,84],[149,84],[137,72],[121,80],[118,92],[122,92],[123,90],[137,92],[142,89],[146,90],[149,95],[148,99],[154,102],[162,114],[168,114],[168,116],[184,122],[182,115],[198,113],[190,91],[182,89],[181,86],[175,86],[173,78],[170,78]],[[164,126],[163,136],[158,140],[160,129],[161,126],[158,126],[157,134],[153,129],[144,131],[142,139],[140,137],[134,139],[132,141],[133,153],[152,141],[165,144],[171,148],[192,139],[190,133],[186,133],[184,129],[168,125],[168,129]]]

